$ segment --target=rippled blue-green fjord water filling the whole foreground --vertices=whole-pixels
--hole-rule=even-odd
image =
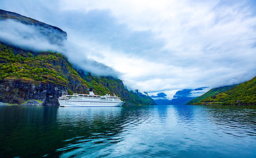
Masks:
[[[0,106],[0,157],[255,155],[255,106]]]

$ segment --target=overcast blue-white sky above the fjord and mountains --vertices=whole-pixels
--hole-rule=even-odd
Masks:
[[[103,63],[127,88],[150,95],[256,75],[253,0],[1,0],[0,9],[61,28],[73,63]]]

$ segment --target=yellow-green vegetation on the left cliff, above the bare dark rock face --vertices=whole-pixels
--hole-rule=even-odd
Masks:
[[[51,82],[66,86],[70,94],[84,93],[89,87],[59,53],[28,51],[0,43],[0,82],[2,80],[21,80],[30,84]]]

